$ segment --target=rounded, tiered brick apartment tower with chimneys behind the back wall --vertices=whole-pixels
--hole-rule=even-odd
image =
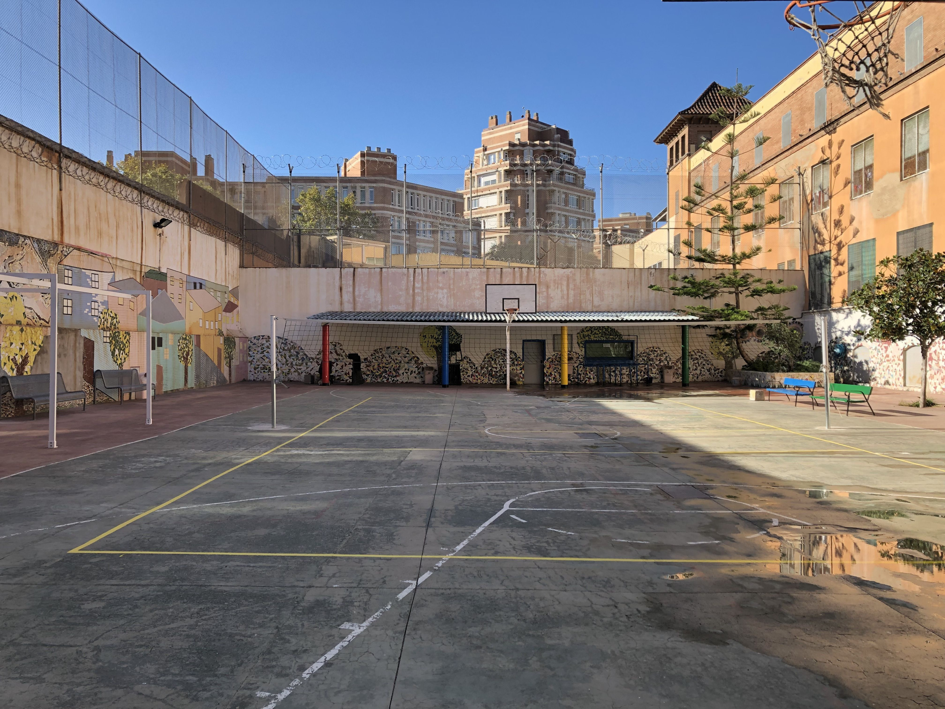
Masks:
[[[568,131],[542,123],[537,112],[514,121],[507,112],[502,125],[498,115],[490,116],[473,151],[472,189],[467,171],[463,190],[465,216],[472,212],[482,230],[484,251],[513,239],[522,247],[522,260],[531,263],[536,218],[541,265],[563,261],[563,253],[555,255],[558,235],[583,237],[570,239],[569,259],[575,258],[575,243],[593,251],[594,191],[585,187],[575,155]]]

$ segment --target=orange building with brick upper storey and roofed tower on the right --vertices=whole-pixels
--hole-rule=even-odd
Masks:
[[[933,225],[945,221],[945,202],[935,198],[936,181],[945,175],[945,150],[936,144],[936,136],[945,135],[941,47],[945,6],[910,3],[902,10],[890,47],[892,80],[881,93],[888,119],[872,111],[866,100],[851,107],[839,89],[825,87],[820,57],[814,53],[759,96],[751,107],[758,116],[737,127],[739,169],[748,171],[748,182],[774,177],[768,197],[782,197],[773,204],[765,199],[743,218],[761,223],[772,210],[783,217],[779,224],[743,234],[737,248],[763,247],[747,264],[753,268],[803,269],[811,310],[840,305],[886,256],[919,247],[943,249],[941,235],[933,233]],[[656,138],[666,146],[669,164],[671,245],[679,247],[691,237],[696,246],[730,251],[729,236],[717,232],[713,219],[694,214],[689,227],[689,215],[680,209],[684,198],[694,194],[696,182],[711,193],[703,204],[727,195],[730,160],[721,152],[719,126],[709,118],[725,101],[713,82]],[[759,145],[762,136],[768,140]],[[700,149],[705,139],[711,139],[709,149]],[[690,265],[685,253],[663,260]],[[647,264],[653,261],[651,250]]]

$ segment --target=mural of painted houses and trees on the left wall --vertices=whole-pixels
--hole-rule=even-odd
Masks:
[[[91,391],[95,370],[137,369],[144,379],[148,353],[159,393],[247,378],[248,338],[239,330],[238,289],[172,269],[143,269],[144,277],[136,278],[115,261],[107,254],[0,232],[3,271],[56,272],[61,286],[151,292],[152,337],[147,342],[144,295],[60,290],[60,343],[71,343],[65,356],[75,360],[72,367],[63,366],[60,344],[60,371],[70,389],[85,386]],[[108,322],[114,329],[103,328]],[[76,337],[67,337],[70,331]],[[115,333],[120,347],[113,346]],[[0,370],[37,373],[34,364],[48,336],[48,294],[0,294]],[[116,352],[122,361],[115,361]],[[99,392],[99,401],[104,393]],[[4,415],[11,410],[4,406]]]

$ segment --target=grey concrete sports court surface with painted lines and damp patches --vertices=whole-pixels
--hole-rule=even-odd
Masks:
[[[705,390],[266,415],[0,481],[6,707],[945,705],[938,431]]]

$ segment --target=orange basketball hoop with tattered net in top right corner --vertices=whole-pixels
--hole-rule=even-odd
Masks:
[[[809,32],[817,43],[824,86],[833,84],[839,88],[848,106],[866,99],[869,108],[888,118],[882,110],[880,92],[892,80],[889,55],[900,58],[889,49],[889,43],[906,3],[904,0],[844,3],[851,4],[856,14],[844,19],[837,14],[840,3],[833,5],[833,0],[791,0],[784,9],[784,19],[791,29],[798,27]],[[810,10],[810,22],[795,16],[795,9]]]

